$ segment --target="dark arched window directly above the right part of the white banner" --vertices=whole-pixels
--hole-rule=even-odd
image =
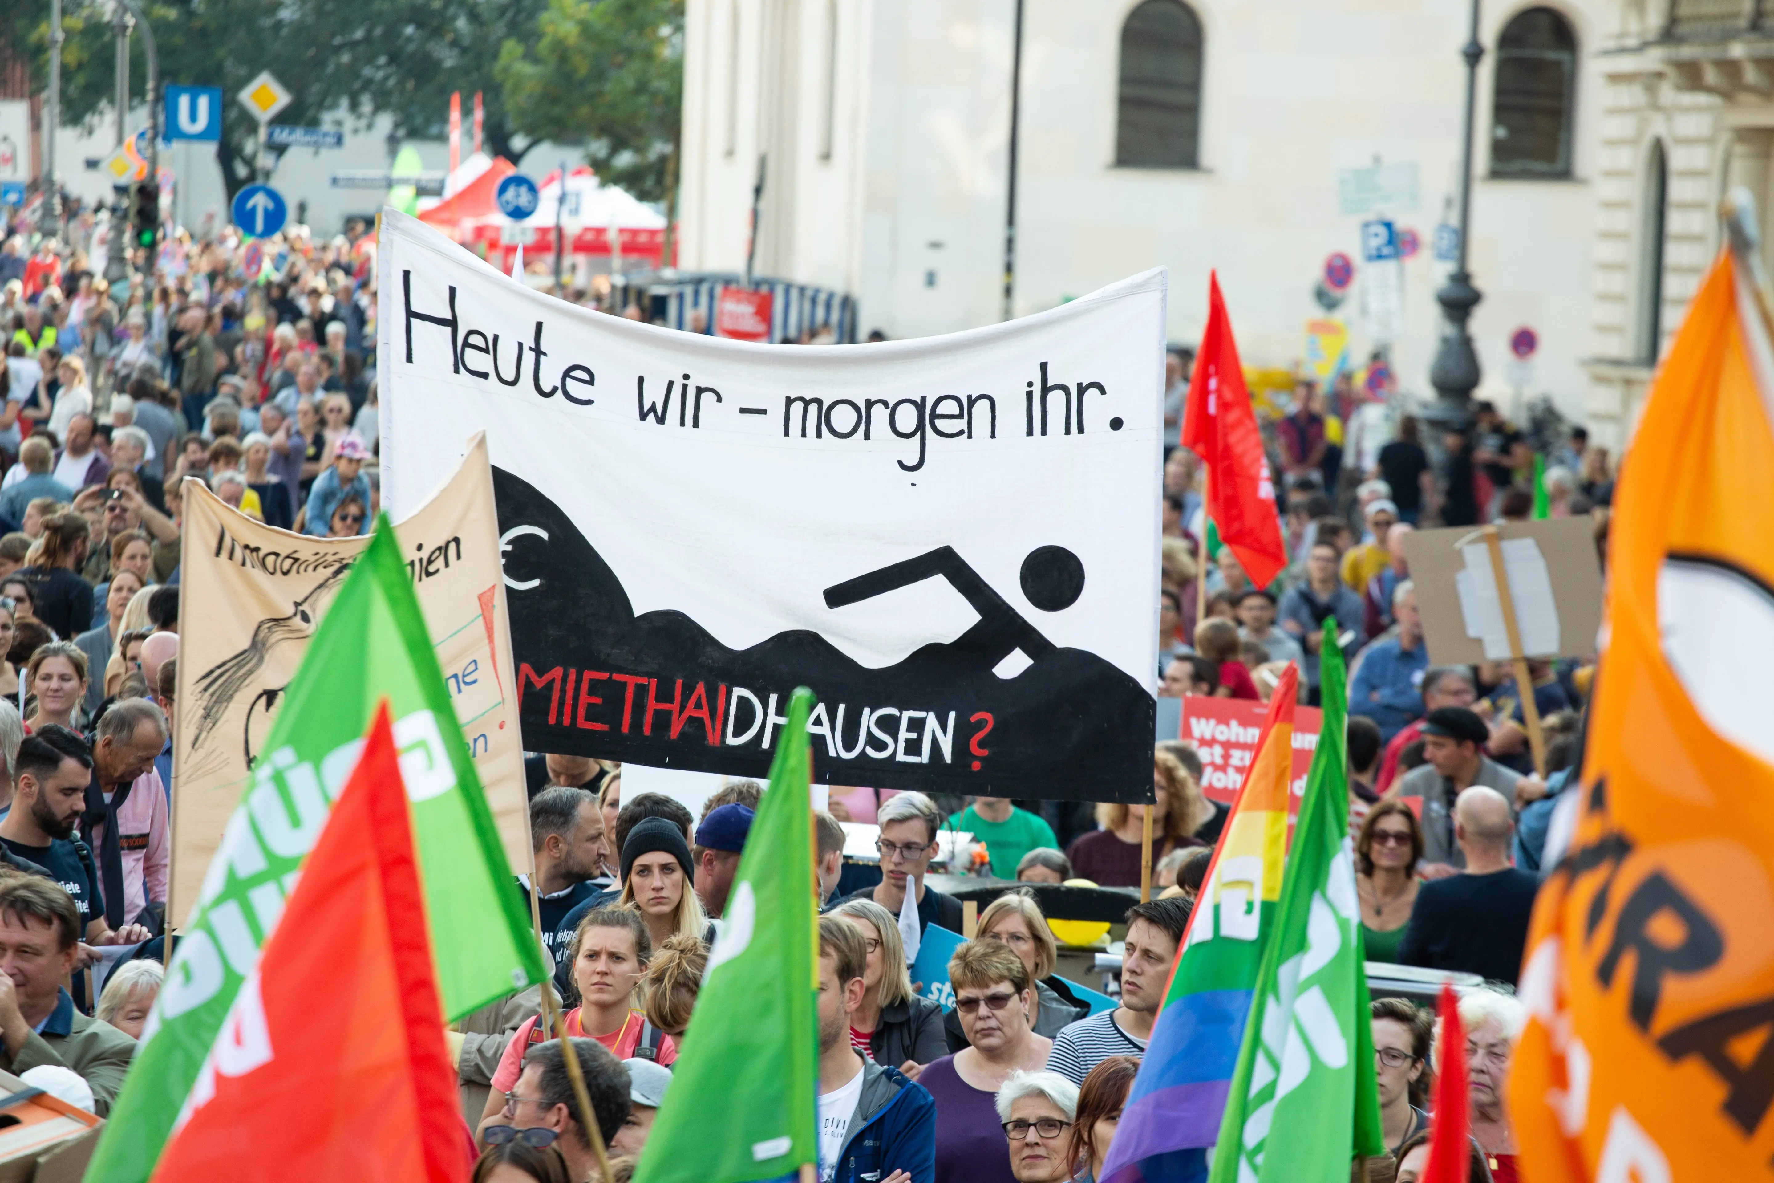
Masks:
[[[1114,161],[1194,168],[1201,158],[1201,21],[1181,0],[1146,0],[1121,27]]]

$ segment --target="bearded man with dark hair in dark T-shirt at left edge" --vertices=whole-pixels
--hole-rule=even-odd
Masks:
[[[87,803],[92,748],[67,727],[50,724],[25,736],[12,764],[12,809],[0,818],[0,844],[16,862],[41,871],[73,896],[89,945],[133,945],[149,938],[140,924],[112,929],[105,922],[92,855],[75,842]]]

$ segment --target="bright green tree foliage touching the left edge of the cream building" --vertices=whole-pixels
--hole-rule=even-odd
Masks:
[[[514,128],[584,142],[598,176],[663,200],[683,112],[683,0],[548,0],[536,37],[507,37],[497,74]]]

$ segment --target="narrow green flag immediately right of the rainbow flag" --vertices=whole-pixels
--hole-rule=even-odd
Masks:
[[[1348,841],[1348,699],[1336,628],[1329,621],[1323,631],[1323,731],[1210,1183],[1345,1183],[1355,1155],[1385,1153]]]

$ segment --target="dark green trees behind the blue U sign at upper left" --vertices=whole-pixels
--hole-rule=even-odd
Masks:
[[[360,126],[390,115],[399,137],[438,137],[449,94],[463,92],[463,119],[484,92],[490,154],[522,160],[536,138],[513,128],[495,67],[507,37],[534,37],[545,0],[144,0],[160,50],[161,83],[222,87],[216,158],[229,197],[252,181],[257,122],[234,94],[261,69],[289,89],[277,122]],[[48,4],[0,4],[0,41],[30,59],[32,87],[50,76]],[[108,0],[66,0],[62,119],[108,115],[115,89]],[[131,39],[131,92],[145,87],[142,37]],[[465,128],[467,131],[467,128]]]

